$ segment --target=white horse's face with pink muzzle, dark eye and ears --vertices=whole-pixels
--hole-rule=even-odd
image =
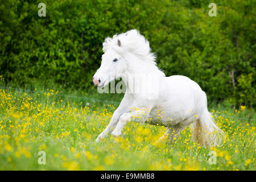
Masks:
[[[105,40],[104,44],[107,41]],[[103,48],[104,54],[101,57],[101,66],[93,76],[94,85],[100,88],[108,85],[115,78],[121,77],[123,71],[125,71],[125,60],[117,51],[118,48],[121,48],[121,42],[118,40],[115,46],[116,48],[113,46],[108,47],[108,49]]]

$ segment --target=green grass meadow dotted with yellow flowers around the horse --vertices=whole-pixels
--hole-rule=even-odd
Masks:
[[[189,127],[173,143],[155,144],[164,127],[135,122],[127,124],[122,138],[95,143],[120,100],[117,94],[1,89],[0,169],[255,170],[253,109],[210,106],[227,135],[222,147],[193,143]],[[211,150],[216,151],[216,165],[208,162]],[[45,165],[38,164],[39,151],[46,152]]]

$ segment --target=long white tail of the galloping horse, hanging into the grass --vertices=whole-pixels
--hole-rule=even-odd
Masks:
[[[200,143],[201,146],[222,146],[222,140],[225,139],[224,132],[214,124],[212,114],[207,109],[192,123],[191,129],[194,142]]]

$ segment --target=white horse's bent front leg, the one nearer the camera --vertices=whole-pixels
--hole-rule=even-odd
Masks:
[[[121,131],[123,127],[125,127],[127,122],[131,121],[132,119],[134,121],[144,122],[147,119],[148,115],[149,115],[149,110],[146,110],[146,109],[133,111],[130,113],[123,113],[119,118],[119,122],[117,123],[117,126],[115,127],[114,131],[112,132],[112,135],[115,137],[122,135]]]

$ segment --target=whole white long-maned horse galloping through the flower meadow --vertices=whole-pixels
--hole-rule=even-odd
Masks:
[[[166,134],[159,140],[173,139],[192,124],[195,142],[202,146],[221,144],[225,135],[212,121],[205,92],[188,77],[166,77],[156,66],[149,42],[137,30],[106,38],[103,51],[101,67],[93,76],[94,84],[104,88],[121,77],[126,82],[126,92],[96,142],[111,132],[120,136],[126,123],[135,120],[166,126]],[[141,75],[145,76],[142,78]],[[145,77],[149,79],[145,80]],[[144,88],[144,91],[146,88],[146,92],[142,89],[133,92],[134,88]]]

